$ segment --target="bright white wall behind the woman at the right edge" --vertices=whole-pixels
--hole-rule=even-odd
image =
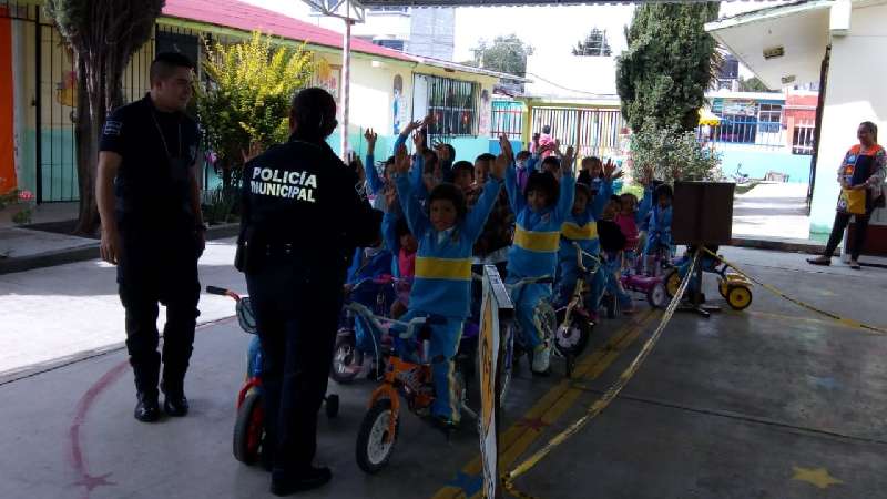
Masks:
[[[887,6],[854,6],[850,32],[832,40],[810,231],[829,232],[838,197],[837,169],[857,143],[856,129],[873,121],[887,143]],[[881,210],[883,211],[883,210]],[[884,214],[878,214],[878,218]]]

